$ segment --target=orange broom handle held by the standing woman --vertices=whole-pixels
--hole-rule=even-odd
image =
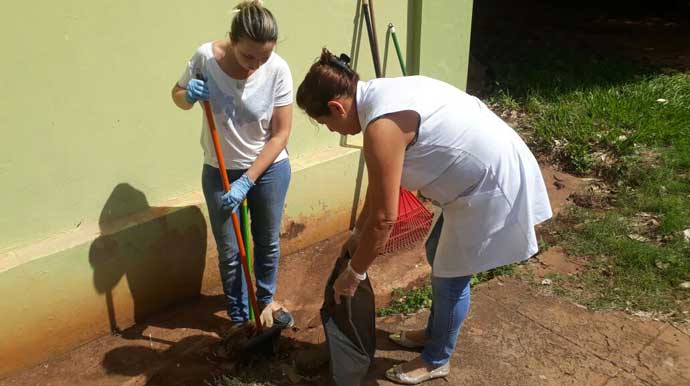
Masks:
[[[211,132],[211,139],[213,139],[213,147],[216,150],[216,158],[218,159],[218,168],[220,168],[220,177],[223,180],[223,188],[226,192],[230,190],[230,180],[228,179],[228,172],[225,169],[225,159],[223,158],[223,152],[220,150],[220,141],[218,140],[218,131],[216,130],[216,123],[213,120],[213,112],[211,111],[211,104],[209,101],[202,101],[204,106],[204,113],[206,114],[206,119],[208,120],[208,128]],[[240,263],[242,264],[242,271],[244,271],[244,277],[247,279],[247,290],[249,291],[249,301],[252,306],[252,311],[254,315],[259,315],[259,305],[256,303],[256,294],[254,293],[254,284],[252,284],[252,278],[249,275],[249,263],[247,262],[247,251],[244,249],[244,241],[242,240],[242,232],[240,230],[240,220],[237,218],[237,213],[232,212],[232,227],[235,230],[235,237],[237,237],[237,246],[240,249]],[[261,324],[261,318],[254,318],[256,320],[256,329],[261,332],[263,330],[263,325]]]

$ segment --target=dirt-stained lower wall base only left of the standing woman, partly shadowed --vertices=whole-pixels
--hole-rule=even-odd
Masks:
[[[113,196],[145,204],[128,185],[118,186]],[[205,271],[214,268],[206,262],[202,211],[196,206],[158,211],[167,215],[0,275],[0,375],[199,296],[209,281]]]

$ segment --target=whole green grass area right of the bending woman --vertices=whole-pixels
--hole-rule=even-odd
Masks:
[[[520,110],[533,149],[613,193],[556,221],[555,242],[590,258],[571,279],[591,307],[680,314],[690,281],[690,74],[549,53],[496,68],[490,102]],[[531,58],[531,59],[530,59]],[[546,59],[545,59],[546,58]],[[547,81],[545,81],[547,80]]]

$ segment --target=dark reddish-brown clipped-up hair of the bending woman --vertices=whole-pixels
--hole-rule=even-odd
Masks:
[[[346,55],[336,57],[326,48],[312,64],[297,88],[297,106],[310,117],[329,115],[328,101],[338,97],[354,97],[359,75],[352,70]]]

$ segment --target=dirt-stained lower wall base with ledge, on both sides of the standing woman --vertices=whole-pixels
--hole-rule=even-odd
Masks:
[[[296,162],[293,183],[302,189],[290,192],[286,207],[327,215],[286,217],[283,253],[347,228],[358,158],[356,151],[333,151],[313,163],[306,157]],[[313,181],[337,189],[304,188]],[[123,201],[137,212],[110,218]],[[198,205],[151,206],[141,191],[121,184],[106,200],[97,237],[0,269],[0,377],[128,328],[175,302],[217,292],[215,243]]]

